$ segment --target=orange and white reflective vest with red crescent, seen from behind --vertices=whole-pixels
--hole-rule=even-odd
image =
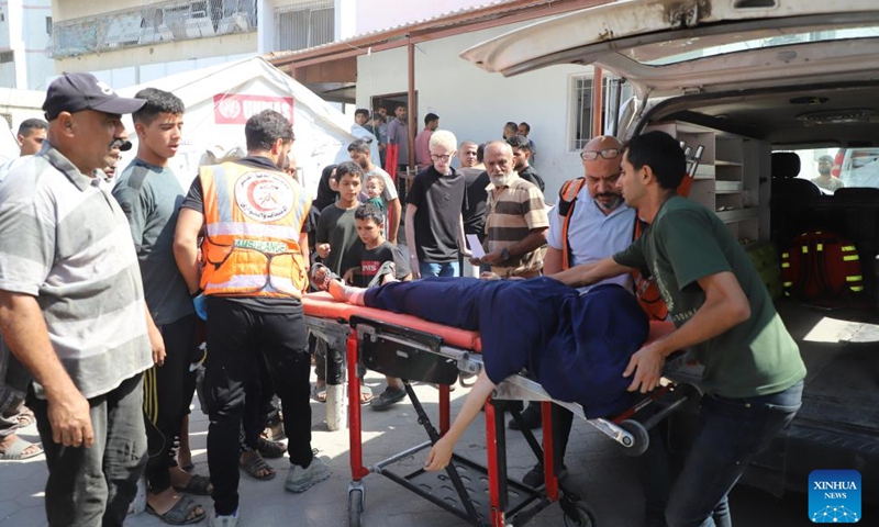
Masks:
[[[237,162],[201,167],[204,294],[301,298],[299,246],[310,200],[285,172]]]

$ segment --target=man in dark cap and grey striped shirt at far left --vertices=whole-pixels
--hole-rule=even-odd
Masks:
[[[63,75],[47,141],[0,186],[0,329],[34,377],[51,526],[121,526],[146,461],[142,372],[165,349],[125,215],[96,177],[143,104]]]

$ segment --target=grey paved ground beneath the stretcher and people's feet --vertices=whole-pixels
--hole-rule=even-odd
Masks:
[[[367,375],[367,383],[378,393],[382,379],[375,373]],[[415,386],[426,403],[431,415],[436,413],[437,391],[427,385]],[[453,394],[454,407],[463,402],[466,390],[458,388]],[[351,480],[348,469],[348,433],[326,431],[323,423],[324,405],[312,403],[313,445],[321,455],[332,458],[333,476],[304,494],[293,495],[283,492],[286,462],[271,461],[278,470],[278,478],[258,482],[242,476],[242,524],[243,526],[347,526],[346,490]],[[454,412],[454,411],[453,411]],[[415,423],[414,412],[408,403],[386,412],[376,413],[364,410],[364,452],[367,464],[401,451],[425,439],[423,429]],[[207,421],[196,410],[191,418],[193,457],[196,471],[208,473],[204,445]],[[23,430],[23,436],[37,440],[36,428]],[[477,422],[463,437],[459,453],[477,460],[485,460],[483,422]],[[534,462],[527,447],[519,434],[509,438],[510,474],[521,478]],[[423,453],[403,461],[414,468],[423,460]],[[575,424],[567,464],[571,472],[568,484],[586,496],[599,517],[602,527],[641,527],[643,505],[637,479],[637,460],[620,453],[614,444],[605,439],[594,428],[579,422]],[[46,478],[45,461],[42,456],[26,461],[0,461],[0,527],[45,525],[43,512],[43,485]],[[365,480],[366,512],[364,525],[387,527],[447,527],[463,525],[455,516],[437,506],[419,498],[390,480],[370,474]],[[210,500],[197,498],[209,506]],[[733,500],[736,526],[786,527],[809,525],[806,506],[802,496],[778,501],[766,494],[743,490]],[[874,516],[877,517],[877,516]],[[158,518],[146,513],[130,516],[126,526],[160,526]],[[207,525],[201,524],[201,525]],[[528,525],[537,527],[564,525],[557,505],[552,505],[537,515]]]

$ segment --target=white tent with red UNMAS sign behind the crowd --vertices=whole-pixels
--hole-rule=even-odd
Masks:
[[[325,166],[349,160],[348,144],[360,137],[372,137],[335,106],[262,57],[186,71],[116,91],[133,97],[143,88],[170,91],[186,104],[183,144],[169,164],[183,189],[188,189],[198,175],[199,161],[205,153],[220,158],[236,148],[246,152],[244,123],[267,108],[292,121],[298,173],[312,195]],[[126,120],[125,126],[135,146],[123,157],[120,170],[137,152],[136,134],[130,117]],[[375,141],[372,159],[378,159]]]

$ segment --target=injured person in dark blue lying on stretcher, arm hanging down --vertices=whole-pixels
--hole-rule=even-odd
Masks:
[[[319,269],[312,277],[337,301],[479,333],[485,369],[448,433],[429,452],[426,470],[448,464],[455,442],[494,386],[523,369],[553,399],[581,404],[588,418],[631,401],[630,358],[647,339],[649,323],[635,296],[619,285],[580,293],[548,277],[431,278],[360,289]]]

